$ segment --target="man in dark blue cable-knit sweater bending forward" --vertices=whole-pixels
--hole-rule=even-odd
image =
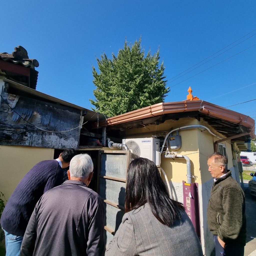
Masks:
[[[19,255],[23,236],[37,201],[47,190],[62,184],[62,168],[67,168],[75,155],[73,148],[64,150],[57,159],[36,164],[20,181],[1,217],[6,256]]]

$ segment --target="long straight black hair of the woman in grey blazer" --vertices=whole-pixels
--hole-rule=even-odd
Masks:
[[[137,209],[146,202],[154,216],[167,226],[180,219],[185,210],[183,204],[170,199],[155,163],[139,157],[128,167],[125,212]]]

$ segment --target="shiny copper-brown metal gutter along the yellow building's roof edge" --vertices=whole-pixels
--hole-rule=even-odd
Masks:
[[[99,126],[103,127],[110,125],[118,125],[120,123],[127,123],[140,119],[151,118],[153,116],[192,111],[199,111],[200,113],[203,113],[205,115],[213,116],[215,118],[226,120],[232,123],[244,125],[245,127],[247,127],[250,136],[252,138],[255,137],[255,121],[252,118],[250,118],[247,115],[243,115],[236,111],[223,108],[221,106],[203,100],[185,100],[177,102],[158,103],[142,109],[134,110],[122,115],[108,118],[103,122],[100,122]]]

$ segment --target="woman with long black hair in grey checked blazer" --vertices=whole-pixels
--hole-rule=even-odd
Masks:
[[[154,162],[128,167],[125,215],[105,256],[200,256],[202,248],[183,205],[170,199]]]

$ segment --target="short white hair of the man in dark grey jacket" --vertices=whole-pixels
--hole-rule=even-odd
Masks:
[[[74,156],[69,165],[71,177],[87,178],[93,171],[92,159],[88,154],[79,154]]]

